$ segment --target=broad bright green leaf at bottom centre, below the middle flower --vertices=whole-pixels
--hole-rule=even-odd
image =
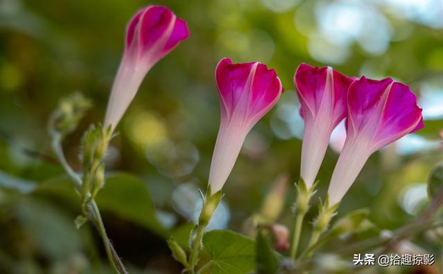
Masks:
[[[213,230],[203,238],[210,254],[211,274],[243,274],[255,268],[255,242],[228,230]]]

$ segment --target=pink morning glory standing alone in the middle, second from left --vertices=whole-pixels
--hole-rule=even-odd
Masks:
[[[277,102],[282,83],[273,69],[259,62],[232,64],[223,59],[215,71],[221,107],[219,134],[210,165],[211,193],[228,179],[244,138]]]

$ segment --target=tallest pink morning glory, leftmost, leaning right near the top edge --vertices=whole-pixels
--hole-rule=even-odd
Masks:
[[[115,129],[146,73],[188,38],[186,21],[163,6],[139,10],[127,26],[125,52],[111,89],[105,127]]]

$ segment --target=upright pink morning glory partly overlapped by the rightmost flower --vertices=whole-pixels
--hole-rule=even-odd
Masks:
[[[331,67],[300,64],[293,81],[300,101],[300,116],[305,120],[300,176],[307,188],[311,188],[332,131],[346,116],[346,93],[354,79]]]

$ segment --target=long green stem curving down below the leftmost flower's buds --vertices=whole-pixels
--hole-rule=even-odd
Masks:
[[[57,155],[58,160],[60,161],[60,164],[66,171],[66,173],[71,178],[71,181],[73,181],[75,189],[78,193],[82,192],[82,179],[78,174],[72,169],[72,167],[68,164],[66,161],[66,157],[64,156],[63,149],[62,149],[62,136],[60,134],[57,134],[53,136],[53,150],[55,154]],[[105,250],[107,253],[107,257],[109,259],[109,264],[111,264],[111,268],[114,271],[114,273],[117,274],[127,274],[127,271],[125,269],[125,266],[121,262],[120,258],[118,257],[116,250],[114,249],[114,246],[112,246],[111,241],[107,237],[107,233],[105,230],[105,225],[103,224],[102,217],[100,215],[100,210],[98,210],[98,206],[96,204],[96,201],[92,200],[90,203],[90,206],[87,207],[89,212],[89,219],[93,223],[93,225],[98,230],[100,237],[102,237],[103,244],[105,246]]]

